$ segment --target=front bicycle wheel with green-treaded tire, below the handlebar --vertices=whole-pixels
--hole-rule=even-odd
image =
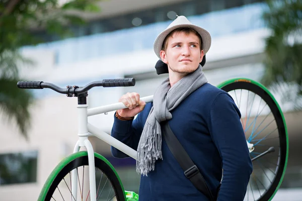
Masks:
[[[97,200],[126,200],[121,180],[110,162],[98,153],[95,155]],[[77,169],[78,194],[71,195],[71,172]],[[62,160],[49,175],[40,196],[48,200],[90,200],[88,153],[80,151]]]

